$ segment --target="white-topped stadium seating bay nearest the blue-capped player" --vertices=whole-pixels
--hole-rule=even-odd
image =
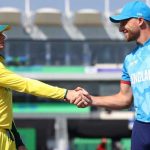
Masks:
[[[74,13],[73,24],[85,39],[109,39],[103,26],[103,15],[93,9],[81,9]]]

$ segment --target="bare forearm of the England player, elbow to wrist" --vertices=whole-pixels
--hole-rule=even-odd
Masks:
[[[99,106],[109,109],[125,109],[128,108],[132,100],[125,98],[119,94],[112,96],[91,96],[92,106]]]

